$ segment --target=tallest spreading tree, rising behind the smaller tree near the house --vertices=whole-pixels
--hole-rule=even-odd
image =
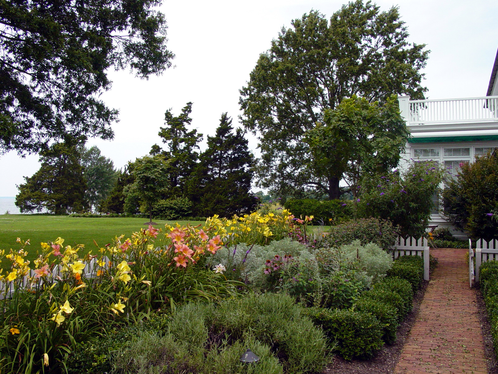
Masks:
[[[422,99],[420,70],[428,51],[407,38],[397,7],[380,11],[361,0],[330,20],[310,11],[282,28],[240,91],[242,123],[259,139],[257,184],[274,191],[294,186],[287,188],[291,195],[306,192],[299,180],[319,177],[306,176],[311,154],[303,137],[343,99],[357,95],[384,103],[393,93]]]

